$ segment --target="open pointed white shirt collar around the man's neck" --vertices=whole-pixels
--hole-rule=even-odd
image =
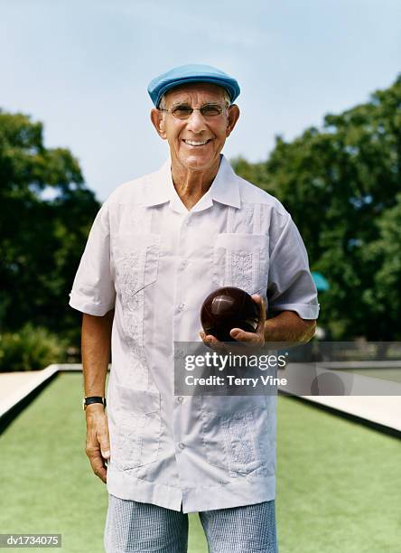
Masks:
[[[172,207],[178,207],[180,197],[175,191],[171,171],[171,159],[167,159],[162,167],[154,173],[154,181],[146,186],[145,206],[172,202]],[[235,208],[241,205],[239,194],[239,178],[224,155],[220,155],[219,171],[211,183],[210,189],[191,211],[201,211],[210,207],[212,201],[224,203]],[[183,204],[182,204],[183,206]],[[181,211],[181,210],[180,210]]]

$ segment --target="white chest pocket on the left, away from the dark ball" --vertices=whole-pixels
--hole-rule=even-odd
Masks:
[[[160,235],[120,233],[112,244],[117,293],[129,309],[134,296],[157,280]]]

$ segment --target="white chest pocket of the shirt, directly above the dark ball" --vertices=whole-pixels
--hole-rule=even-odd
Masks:
[[[213,248],[213,283],[266,295],[268,244],[265,234],[218,234]]]

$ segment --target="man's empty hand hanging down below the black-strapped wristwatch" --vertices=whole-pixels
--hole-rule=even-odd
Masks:
[[[106,461],[110,458],[107,415],[99,403],[92,403],[85,410],[87,416],[87,444],[85,452],[93,472],[104,483],[107,482]]]

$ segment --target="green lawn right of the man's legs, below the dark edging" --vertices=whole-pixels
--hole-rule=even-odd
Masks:
[[[280,398],[280,553],[400,553],[401,441]]]

